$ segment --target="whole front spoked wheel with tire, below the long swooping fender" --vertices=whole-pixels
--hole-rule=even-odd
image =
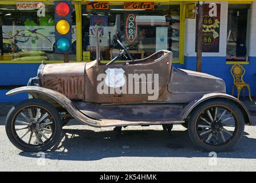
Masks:
[[[5,129],[18,149],[40,152],[52,148],[60,139],[62,122],[58,111],[48,102],[30,99],[11,108]]]

